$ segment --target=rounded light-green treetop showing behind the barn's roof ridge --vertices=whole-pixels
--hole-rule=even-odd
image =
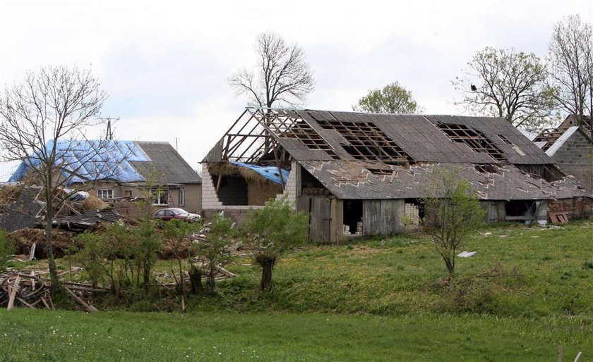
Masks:
[[[412,92],[405,89],[400,83],[393,82],[383,89],[373,89],[361,98],[354,111],[371,113],[419,113],[422,108],[418,106]]]

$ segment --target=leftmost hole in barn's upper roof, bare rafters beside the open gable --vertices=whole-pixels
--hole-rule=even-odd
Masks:
[[[280,138],[292,138],[301,141],[308,149],[321,149],[333,158],[337,156],[330,144],[321,137],[309,123],[299,118],[292,118],[287,113],[268,113],[264,119],[268,127]]]

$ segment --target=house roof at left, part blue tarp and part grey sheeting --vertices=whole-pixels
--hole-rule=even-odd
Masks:
[[[49,149],[50,142],[47,145]],[[166,142],[59,140],[56,166],[68,179],[67,184],[96,180],[144,182],[147,170],[155,169],[158,182],[200,183],[200,176]],[[9,181],[23,180],[31,167],[40,164],[31,156],[18,166]]]

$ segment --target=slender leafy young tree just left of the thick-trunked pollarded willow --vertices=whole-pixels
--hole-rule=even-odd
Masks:
[[[234,235],[232,220],[216,213],[212,216],[205,241],[198,246],[200,256],[206,261],[206,289],[210,294],[215,292],[217,267],[229,261],[229,246]]]

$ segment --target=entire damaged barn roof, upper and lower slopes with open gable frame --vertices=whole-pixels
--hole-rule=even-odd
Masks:
[[[504,118],[247,108],[203,162],[284,152],[342,199],[421,197],[434,166],[460,170],[482,199],[589,196],[559,171],[537,177],[554,162]]]

